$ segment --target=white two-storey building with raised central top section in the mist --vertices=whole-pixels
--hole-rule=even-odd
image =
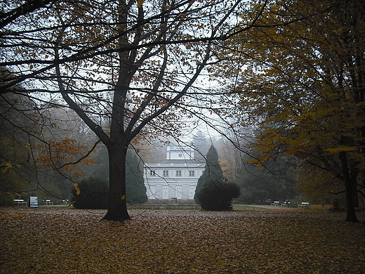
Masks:
[[[205,164],[194,160],[192,148],[168,145],[166,161],[145,164],[143,173],[148,200],[194,200],[195,188],[204,167]]]

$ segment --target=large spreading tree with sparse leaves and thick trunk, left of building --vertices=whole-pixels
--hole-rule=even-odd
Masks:
[[[255,18],[230,21],[245,5],[239,0],[46,1],[24,15],[17,13],[20,6],[7,5],[0,66],[15,72],[4,79],[2,92],[22,93],[13,89],[22,82],[28,92],[49,93],[48,100],[62,96],[107,147],[110,206],[104,218],[124,221],[130,218],[128,145],[152,127],[178,133],[179,115],[194,104],[194,81],[215,61],[213,41],[252,27],[260,16],[261,10]],[[180,112],[171,110],[174,105]]]

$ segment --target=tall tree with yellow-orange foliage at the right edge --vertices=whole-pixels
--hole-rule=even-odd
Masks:
[[[298,22],[282,24],[282,16]],[[267,21],[277,29],[241,36],[237,70],[230,71],[241,117],[257,117],[264,130],[260,160],[296,155],[331,172],[345,186],[346,221],[357,221],[365,165],[365,3],[276,1],[260,20]]]

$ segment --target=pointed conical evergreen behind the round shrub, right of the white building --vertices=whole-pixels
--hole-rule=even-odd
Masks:
[[[201,204],[199,201],[199,197],[197,193],[206,185],[206,183],[221,181],[223,179],[223,171],[218,162],[218,152],[214,148],[214,145],[211,145],[208,153],[206,154],[206,166],[203,174],[199,177],[197,188],[195,189],[194,200],[197,204]]]

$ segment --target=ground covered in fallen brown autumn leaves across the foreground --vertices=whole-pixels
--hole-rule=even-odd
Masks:
[[[365,273],[365,224],[343,213],[130,213],[0,208],[0,273]]]

